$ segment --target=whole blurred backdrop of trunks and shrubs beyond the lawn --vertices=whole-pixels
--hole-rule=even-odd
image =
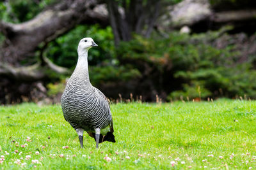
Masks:
[[[84,37],[110,99],[255,99],[255,32],[255,0],[0,1],[0,104],[60,103]]]

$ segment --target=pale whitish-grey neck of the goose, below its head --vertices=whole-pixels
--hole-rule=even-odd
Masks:
[[[87,83],[90,83],[87,58],[88,50],[83,50],[82,52],[78,53],[78,60],[74,73],[76,73],[79,78],[83,78]]]

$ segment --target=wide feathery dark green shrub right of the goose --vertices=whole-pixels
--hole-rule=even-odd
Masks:
[[[203,99],[244,95],[255,98],[254,55],[239,62],[242,54],[234,40],[229,40],[232,37],[223,34],[227,29],[230,28],[191,36],[172,32],[168,38],[134,36],[131,41],[122,42],[116,53],[123,63],[129,62],[142,75],[145,69],[148,69],[150,78],[156,74],[158,80],[152,78],[152,83],[159,91],[172,92],[169,99],[199,97],[198,87]],[[221,35],[230,43],[217,48],[216,41],[220,41]],[[148,67],[143,68],[145,65]]]

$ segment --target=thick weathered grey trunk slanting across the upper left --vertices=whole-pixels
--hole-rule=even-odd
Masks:
[[[99,10],[97,1],[67,0],[42,11],[32,20],[21,24],[0,21],[0,32],[5,36],[3,46],[0,47],[1,74],[4,66],[19,66],[21,60],[35,56],[38,45],[46,45],[53,39],[65,34],[77,24],[108,24],[108,15]],[[42,57],[40,57],[42,59]],[[41,60],[40,64],[49,64]],[[49,68],[56,68],[53,63]],[[59,67],[60,68],[60,67]],[[63,69],[62,69],[63,71]],[[6,74],[9,71],[6,70]]]

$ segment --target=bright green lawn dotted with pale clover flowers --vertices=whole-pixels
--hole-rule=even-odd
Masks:
[[[60,105],[1,106],[0,155],[4,155],[4,161],[0,169],[20,169],[22,165],[14,163],[20,157],[21,163],[27,163],[24,169],[256,167],[256,101],[119,103],[112,104],[111,110],[116,143],[104,142],[96,149],[94,139],[84,133],[81,149]],[[27,136],[31,141],[26,141]],[[28,146],[22,148],[25,143]],[[109,162],[104,159],[107,154]],[[31,159],[26,160],[26,155]],[[35,159],[40,163],[32,164]],[[172,166],[172,161],[177,164]]]

